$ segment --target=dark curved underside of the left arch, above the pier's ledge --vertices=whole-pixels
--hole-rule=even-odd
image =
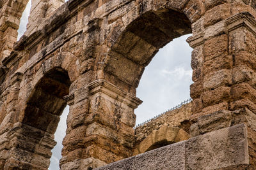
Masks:
[[[28,100],[24,124],[54,134],[67,105],[63,97],[68,95],[70,84],[67,71],[59,67],[48,71]]]

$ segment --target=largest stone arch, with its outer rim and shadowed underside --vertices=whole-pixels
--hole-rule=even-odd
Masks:
[[[105,41],[107,55],[103,55],[99,63],[105,64],[104,71],[112,79],[117,78],[136,88],[145,66],[159,48],[174,38],[191,33],[191,24],[202,13],[200,1],[140,2],[139,7],[132,8],[113,23]]]

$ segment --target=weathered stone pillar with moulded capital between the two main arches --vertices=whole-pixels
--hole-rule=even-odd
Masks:
[[[106,80],[95,80],[86,89],[80,92],[89,97],[75,93],[70,106],[61,169],[95,168],[132,155],[134,109],[140,99]]]

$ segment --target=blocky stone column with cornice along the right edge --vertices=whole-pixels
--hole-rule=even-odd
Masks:
[[[232,56],[232,86],[228,124],[248,126],[250,169],[256,169],[256,20],[250,13],[227,19],[228,52]]]

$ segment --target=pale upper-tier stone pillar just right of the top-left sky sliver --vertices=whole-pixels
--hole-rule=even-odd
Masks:
[[[45,18],[50,17],[64,2],[65,0],[32,0],[27,31],[24,34],[29,36],[37,31],[40,25],[44,24]]]

